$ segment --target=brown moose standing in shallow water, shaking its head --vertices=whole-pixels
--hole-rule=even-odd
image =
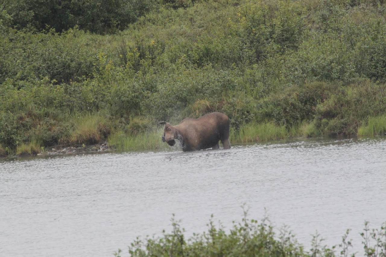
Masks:
[[[176,140],[182,144],[183,151],[196,151],[201,149],[218,149],[221,141],[224,149],[230,148],[229,143],[229,118],[223,113],[208,113],[198,119],[186,118],[176,126],[161,121],[164,124],[162,141],[173,146]]]

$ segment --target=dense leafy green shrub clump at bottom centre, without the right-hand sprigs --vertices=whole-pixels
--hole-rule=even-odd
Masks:
[[[129,247],[131,256],[304,256],[303,247],[296,242],[291,232],[282,231],[277,236],[267,218],[258,222],[246,216],[234,222],[229,233],[222,226],[216,227],[213,220],[208,231],[191,238],[185,237],[180,222],[172,218],[172,231],[163,237],[136,240]],[[115,256],[121,256],[118,250]]]

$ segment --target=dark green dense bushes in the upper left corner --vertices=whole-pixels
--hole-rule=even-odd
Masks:
[[[62,32],[79,26],[90,32],[124,29],[157,4],[154,0],[9,0],[3,10],[10,16],[10,26],[17,29],[46,27]]]

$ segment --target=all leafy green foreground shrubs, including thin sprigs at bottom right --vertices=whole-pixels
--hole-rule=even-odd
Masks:
[[[213,218],[213,217],[212,217]],[[279,234],[267,218],[261,221],[247,218],[226,231],[222,226],[216,227],[211,219],[208,231],[187,237],[180,222],[172,218],[172,231],[163,236],[137,239],[131,243],[128,252],[118,250],[116,257],[121,256],[373,256],[386,255],[386,222],[381,228],[371,229],[365,222],[362,236],[362,253],[352,251],[349,231],[342,236],[342,241],[334,246],[323,244],[320,235],[313,235],[311,249],[304,249],[296,237],[286,229]]]

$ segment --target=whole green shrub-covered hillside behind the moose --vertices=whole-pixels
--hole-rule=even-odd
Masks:
[[[0,5],[0,155],[212,111],[231,143],[386,132],[383,0],[43,2]]]

